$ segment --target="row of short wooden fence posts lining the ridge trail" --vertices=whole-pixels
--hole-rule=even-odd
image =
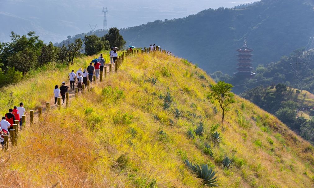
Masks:
[[[156,51],[160,51],[159,47],[156,47]],[[149,52],[147,51],[147,48],[145,48],[145,50],[127,50],[127,51],[123,51],[121,55],[119,55],[119,57],[117,58],[115,64],[109,64],[109,69],[107,69],[107,66],[104,66],[104,71],[100,71],[100,79],[99,81],[102,82],[103,81],[103,76],[106,78],[107,75],[112,73],[112,68],[115,69],[115,72],[118,71],[119,67],[121,66],[121,64],[124,62],[125,58],[132,55],[132,54],[139,54],[139,52],[141,52],[140,54],[143,53],[151,53],[152,51],[149,48]],[[162,53],[166,53],[166,50],[162,50],[160,51]],[[113,67],[112,67],[113,66]],[[96,84],[96,75],[93,75],[93,84]],[[87,91],[89,91],[90,89],[90,81],[87,80],[87,88],[85,88],[85,85],[82,85],[82,94],[85,94],[85,89]],[[68,107],[69,105],[69,100],[72,97],[77,97],[78,96],[78,88],[75,87],[74,91],[70,91],[70,92],[66,92],[66,97],[65,97],[65,103],[66,103],[66,107]],[[22,116],[22,121],[23,121],[23,125],[22,127],[25,129],[26,125],[27,126],[32,126],[33,124],[38,123],[41,118],[42,118],[42,114],[45,113],[46,111],[51,110],[51,105],[54,103],[54,98],[51,99],[50,102],[46,102],[45,107],[38,107],[37,110],[30,110],[30,115],[26,118],[26,116]],[[61,97],[57,98],[57,108],[60,110],[61,109]],[[53,108],[56,108],[53,107]],[[26,123],[29,122],[29,123]],[[10,137],[9,137],[10,135]],[[4,135],[4,150],[8,150],[9,148],[9,142],[11,142],[11,146],[16,146],[18,144],[18,139],[19,139],[19,120],[15,120],[14,124],[13,124],[13,130],[10,130],[9,135]]]

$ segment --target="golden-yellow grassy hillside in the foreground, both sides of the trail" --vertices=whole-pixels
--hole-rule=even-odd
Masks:
[[[92,59],[77,59],[69,69]],[[48,70],[31,83],[5,88],[0,111],[6,111],[10,91],[31,108],[50,100],[66,73]],[[51,81],[43,82],[45,76]],[[145,81],[152,77],[155,85]],[[240,97],[221,124],[217,104],[206,98],[210,84],[203,70],[183,59],[133,55],[68,108],[45,113],[41,123],[22,132],[17,147],[1,151],[2,186],[206,187],[184,165],[188,159],[212,167],[220,187],[313,187],[313,147]],[[162,99],[167,95],[173,99],[169,109]],[[200,122],[203,135],[189,138],[187,131]],[[216,129],[220,143],[210,136]],[[203,153],[205,143],[213,157]],[[234,168],[222,167],[225,155]]]

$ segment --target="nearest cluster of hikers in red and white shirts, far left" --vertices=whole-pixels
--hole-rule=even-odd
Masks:
[[[20,129],[22,130],[22,125],[23,125],[23,121],[22,121],[22,116],[23,115],[27,115],[25,108],[24,108],[24,104],[23,102],[21,102],[19,104],[19,107],[14,106],[14,108],[10,108],[9,112],[6,113],[3,117],[2,120],[0,121],[0,143],[1,146],[4,146],[4,136],[3,135],[8,135],[9,131],[11,129],[13,129],[13,124],[15,123],[15,120],[19,120],[19,126]]]

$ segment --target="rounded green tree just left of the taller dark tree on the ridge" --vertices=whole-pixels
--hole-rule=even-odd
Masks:
[[[104,42],[96,35],[85,36],[84,46],[86,55],[94,55],[105,49]]]

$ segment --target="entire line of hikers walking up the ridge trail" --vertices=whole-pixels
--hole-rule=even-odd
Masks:
[[[130,48],[130,50],[132,50],[132,48]],[[156,50],[157,48],[155,44],[150,45],[150,51],[156,51]],[[162,51],[161,48],[159,48],[159,50]],[[167,55],[172,55],[171,52],[169,51],[167,51],[166,53]],[[116,52],[116,49],[111,48],[111,51],[109,52],[109,56],[110,56],[110,63],[114,65],[118,57],[118,53]],[[75,81],[77,81],[77,88],[78,88],[78,91],[80,91],[82,90],[82,85],[87,86],[87,79],[89,79],[89,81],[92,83],[92,79],[94,75],[96,76],[96,79],[99,78],[100,71],[103,71],[104,66],[106,64],[106,60],[103,58],[102,54],[100,54],[98,59],[94,59],[94,60],[93,60],[94,62],[92,61],[86,69],[79,68],[76,71],[76,73],[74,72],[74,70],[72,70],[69,73],[68,79],[70,81],[71,90],[74,90]],[[53,91],[55,105],[57,104],[57,98],[60,96],[62,97],[62,104],[64,104],[65,95],[66,95],[66,92],[68,92],[68,88],[69,86],[66,86],[64,81],[61,83],[60,87],[58,85],[55,86],[55,89]],[[0,121],[0,127],[1,127],[0,143],[2,147],[4,145],[3,135],[8,135],[9,131],[13,129],[13,124],[15,123],[15,120],[19,120],[20,129],[22,130],[22,125],[23,125],[22,116],[23,115],[27,115],[27,113],[25,111],[23,102],[21,102],[19,104],[19,107],[14,106],[14,109],[10,108],[8,113],[6,113],[2,117],[2,120]]]

